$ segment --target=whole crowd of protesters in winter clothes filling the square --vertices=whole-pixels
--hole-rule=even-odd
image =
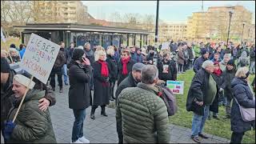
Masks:
[[[90,118],[101,107],[115,100],[119,143],[170,142],[169,119],[165,102],[156,87],[176,81],[178,74],[194,70],[194,78],[186,99],[186,110],[193,111],[191,138],[201,142],[207,119],[218,117],[218,107],[226,107],[230,118],[231,142],[241,142],[244,132],[255,126],[245,122],[239,106],[255,108],[254,92],[248,84],[249,74],[255,74],[255,45],[233,42],[170,42],[170,46],[75,46],[60,50],[43,84],[30,74],[15,74],[10,64],[20,62],[26,46],[12,44],[10,51],[1,50],[1,129],[5,142],[56,142],[48,106],[55,104],[55,75],[59,93],[63,84],[69,85],[69,107],[73,110],[74,125],[71,142],[89,143],[83,136],[86,108],[91,106]],[[247,68],[247,67],[250,68]],[[63,78],[63,79],[62,79]],[[114,86],[117,85],[117,90]],[[252,84],[255,87],[255,83]],[[29,91],[15,122],[18,104],[26,87]],[[92,93],[93,91],[93,93]],[[237,101],[232,101],[232,99]],[[212,113],[212,114],[211,114]]]

